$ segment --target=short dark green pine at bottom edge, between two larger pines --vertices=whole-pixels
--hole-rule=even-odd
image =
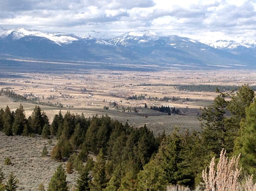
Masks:
[[[88,170],[84,167],[82,169],[82,172],[79,174],[78,179],[76,180],[76,191],[89,191],[90,178]]]

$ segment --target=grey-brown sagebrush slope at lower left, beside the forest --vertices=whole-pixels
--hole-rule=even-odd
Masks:
[[[39,184],[43,184],[47,190],[51,176],[60,164],[50,159],[50,156],[42,157],[43,147],[46,146],[49,153],[56,140],[48,143],[48,139],[40,137],[7,137],[0,132],[0,168],[5,178],[8,178],[12,171],[18,179],[18,190],[36,191]],[[12,165],[4,165],[6,157],[11,159]],[[63,163],[63,166],[66,164]],[[76,172],[67,174],[67,181],[70,187],[75,184],[78,176]],[[5,181],[6,181],[5,179]]]

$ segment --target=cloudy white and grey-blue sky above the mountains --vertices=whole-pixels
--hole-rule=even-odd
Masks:
[[[0,0],[0,26],[86,34],[155,31],[195,40],[256,40],[256,0]]]

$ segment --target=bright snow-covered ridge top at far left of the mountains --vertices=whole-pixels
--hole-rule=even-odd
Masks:
[[[22,37],[43,37],[47,38],[48,40],[53,41],[54,43],[57,43],[59,45],[61,44],[69,44],[72,43],[73,41],[77,41],[78,38],[76,38],[74,35],[69,35],[65,33],[55,33],[51,34],[48,32],[42,32],[39,30],[30,30],[26,29],[23,27],[15,28],[15,29],[9,29],[9,30],[4,30],[1,32],[0,31],[0,38],[6,38],[10,37],[13,40],[18,40]]]

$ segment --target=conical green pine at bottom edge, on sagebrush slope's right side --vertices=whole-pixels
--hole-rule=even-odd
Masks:
[[[52,175],[48,191],[67,191],[66,174],[61,165],[59,165]]]

